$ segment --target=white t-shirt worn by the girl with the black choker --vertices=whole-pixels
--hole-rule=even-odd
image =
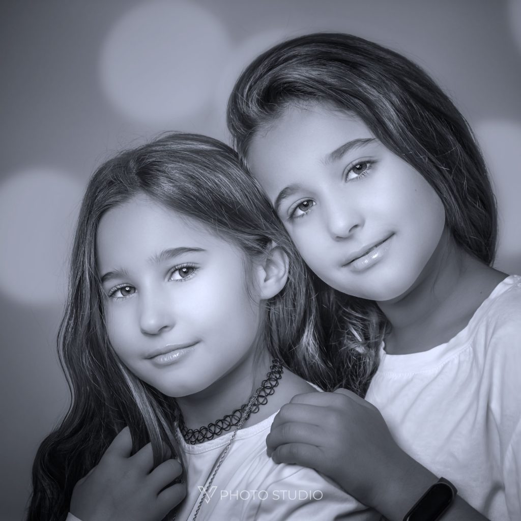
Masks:
[[[203,501],[197,521],[377,521],[369,510],[338,485],[315,470],[298,465],[276,464],[266,454],[266,436],[275,414],[238,431],[228,455]],[[187,464],[187,498],[176,519],[191,520],[212,467],[232,432],[197,445],[181,440]],[[346,463],[348,464],[348,463]]]

